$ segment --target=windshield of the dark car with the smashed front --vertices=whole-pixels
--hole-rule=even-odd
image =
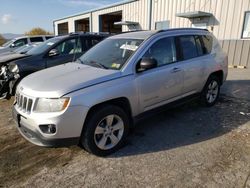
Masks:
[[[49,40],[46,40],[45,42],[39,44],[38,46],[32,48],[30,51],[27,52],[28,55],[37,55],[45,52],[48,50],[52,45],[57,43],[59,40],[61,40],[61,37],[55,37]]]

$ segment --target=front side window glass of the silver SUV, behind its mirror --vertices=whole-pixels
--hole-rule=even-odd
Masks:
[[[158,67],[176,61],[176,49],[173,37],[160,39],[155,42],[143,57],[157,60]]]

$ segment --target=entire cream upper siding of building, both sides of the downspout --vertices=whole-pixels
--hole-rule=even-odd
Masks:
[[[213,26],[214,35],[220,39],[240,39],[244,12],[250,10],[250,0],[152,0],[152,23],[151,29],[155,29],[155,22],[169,20],[170,27],[191,27],[192,22],[186,18],[176,17],[176,13],[190,11],[205,11],[214,15],[204,21],[208,22],[209,28]],[[139,22],[137,29],[148,29],[148,0],[118,5],[111,8],[93,12],[93,31],[99,31],[99,15],[122,11],[124,21]],[[55,23],[69,22],[69,32],[75,30],[74,21],[89,17],[90,14],[67,18]],[[196,20],[192,20],[197,22]],[[198,20],[198,22],[203,22]],[[55,24],[55,30],[57,30]],[[128,27],[123,26],[123,31]]]

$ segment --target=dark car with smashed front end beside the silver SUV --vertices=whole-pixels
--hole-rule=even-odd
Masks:
[[[74,33],[45,41],[27,57],[10,62],[0,70],[0,98],[9,99],[25,76],[56,65],[76,61],[88,49],[108,37],[104,33]]]

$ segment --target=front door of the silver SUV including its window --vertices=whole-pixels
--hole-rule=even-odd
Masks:
[[[156,68],[138,73],[136,78],[140,108],[141,111],[147,111],[182,94],[183,71],[177,62],[173,37],[159,39],[143,57],[157,61]]]

